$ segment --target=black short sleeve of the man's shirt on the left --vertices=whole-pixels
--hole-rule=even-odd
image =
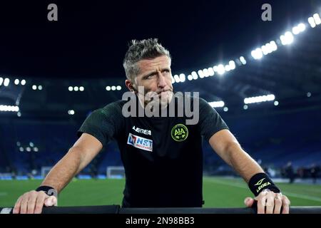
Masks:
[[[94,110],[78,130],[78,137],[83,133],[93,135],[105,146],[123,129],[123,115],[118,103],[111,103],[104,108]]]

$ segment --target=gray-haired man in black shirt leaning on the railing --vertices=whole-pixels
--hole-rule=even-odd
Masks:
[[[168,50],[157,39],[133,41],[123,66],[126,86],[136,100],[130,106],[129,101],[118,100],[91,113],[78,130],[77,142],[41,187],[18,199],[14,213],[39,213],[44,204],[56,204],[56,197],[46,192],[61,192],[111,140],[118,142],[126,172],[123,207],[201,207],[203,139],[248,182],[259,213],[280,213],[281,207],[282,213],[288,213],[289,199],[240,147],[220,115],[197,96],[173,94],[170,61]],[[193,124],[188,124],[187,113],[178,115],[188,104],[195,113]],[[178,111],[166,117],[148,116],[148,108]],[[253,202],[245,199],[248,207]]]

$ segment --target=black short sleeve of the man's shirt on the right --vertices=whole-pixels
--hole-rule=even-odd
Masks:
[[[218,112],[212,108],[206,100],[200,99],[200,120],[198,122],[200,134],[208,141],[220,130],[229,129],[228,125],[220,117]]]

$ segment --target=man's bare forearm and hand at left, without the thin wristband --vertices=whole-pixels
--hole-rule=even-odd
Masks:
[[[68,150],[68,153],[52,168],[41,186],[54,187],[57,192],[61,192],[63,187],[66,187],[68,182],[83,170],[102,148],[103,145],[99,140],[92,135],[83,133],[73,147]],[[56,197],[49,197],[44,191],[33,190],[19,197],[14,206],[14,213],[41,213],[44,204],[53,206],[56,201]]]

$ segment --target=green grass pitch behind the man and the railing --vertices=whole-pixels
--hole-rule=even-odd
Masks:
[[[22,193],[34,190],[40,180],[0,180],[0,207],[11,207]],[[121,204],[125,180],[73,180],[61,192],[58,206]],[[277,184],[292,206],[321,206],[321,185]],[[243,180],[204,177],[204,207],[244,207],[252,196]]]

